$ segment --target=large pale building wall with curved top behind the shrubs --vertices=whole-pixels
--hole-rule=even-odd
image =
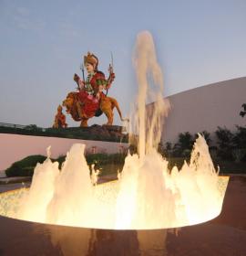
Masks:
[[[177,142],[179,133],[211,133],[226,126],[231,131],[235,125],[244,126],[241,104],[246,102],[246,78],[213,83],[168,97],[171,110],[165,120],[163,142]]]

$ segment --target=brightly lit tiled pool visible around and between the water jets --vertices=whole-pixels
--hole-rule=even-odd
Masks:
[[[222,207],[222,201],[223,197],[225,195],[226,187],[229,181],[228,176],[220,176],[218,178],[218,190],[220,191],[220,205],[218,206],[218,214],[220,214],[220,209]],[[118,229],[115,225],[116,217],[113,216],[115,213],[115,207],[117,206],[117,199],[118,199],[118,193],[119,193],[119,182],[118,181],[113,181],[113,182],[107,182],[101,185],[97,185],[95,187],[94,191],[94,196],[97,198],[97,220],[95,219],[90,219],[88,221],[84,222],[79,222],[79,219],[77,219],[77,222],[72,222],[70,220],[66,221],[66,219],[62,219],[63,221],[61,223],[54,223],[47,222],[46,219],[40,218],[36,216],[32,216],[35,214],[34,209],[28,210],[28,214],[20,216],[19,211],[20,208],[22,208],[22,204],[24,200],[28,200],[28,197],[30,195],[30,188],[20,188],[20,189],[15,189],[12,191],[8,191],[5,193],[0,194],[0,215],[5,216],[5,217],[10,217],[10,218],[17,218],[17,219],[24,219],[24,220],[32,220],[40,223],[50,223],[50,224],[60,224],[60,225],[67,225],[67,226],[78,226],[78,227],[83,227],[83,228],[95,228],[95,229]],[[38,203],[38,202],[37,202]],[[126,205],[126,208],[128,208],[128,205]],[[102,212],[105,211],[105,212]],[[209,211],[208,211],[209,212]],[[216,213],[216,211],[213,211]],[[110,214],[110,216],[109,216]],[[198,223],[200,222],[205,222],[210,219],[213,219],[216,216],[206,216],[203,215],[199,218]],[[31,216],[31,218],[28,218],[28,216]],[[94,214],[91,214],[92,218],[94,217]],[[39,218],[39,219],[38,219]],[[74,215],[71,215],[71,218],[74,218]],[[89,218],[89,217],[88,217]],[[153,218],[155,218],[153,216]],[[41,219],[41,220],[40,220]],[[43,220],[44,219],[44,220]],[[109,221],[108,221],[109,219]],[[89,225],[90,223],[90,225]],[[122,224],[122,223],[120,223]],[[149,227],[148,223],[144,225],[144,223],[141,223],[142,226],[138,227],[132,227],[132,229],[167,229],[167,228],[178,228],[178,227],[183,227],[183,226],[189,226],[197,223],[190,223],[189,219],[186,219],[186,221],[183,222],[178,222],[173,223],[173,225],[169,225],[170,223],[165,223],[165,217],[163,217],[163,221],[159,223],[158,226],[155,227]],[[120,226],[120,225],[119,225]],[[124,229],[124,227],[121,225],[119,229]],[[125,229],[129,229],[126,227]]]

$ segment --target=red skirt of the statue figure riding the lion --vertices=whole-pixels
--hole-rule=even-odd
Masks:
[[[87,91],[77,92],[79,101],[83,104],[83,113],[87,118],[93,117],[99,108],[99,101],[93,95],[89,95]]]

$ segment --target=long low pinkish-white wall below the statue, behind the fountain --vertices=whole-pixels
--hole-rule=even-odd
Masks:
[[[46,148],[49,145],[51,145],[51,157],[66,155],[71,145],[76,143],[86,144],[87,152],[96,146],[97,153],[113,154],[119,153],[122,146],[128,148],[128,144],[112,142],[0,133],[0,171],[28,155],[46,155]]]

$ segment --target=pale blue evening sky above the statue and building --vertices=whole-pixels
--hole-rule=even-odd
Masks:
[[[138,91],[133,48],[145,30],[155,42],[163,96],[244,77],[245,14],[245,0],[0,0],[0,123],[52,126],[87,51],[107,76],[113,53],[108,95],[127,116]],[[89,124],[106,122],[102,116]],[[79,125],[68,115],[67,123]]]

